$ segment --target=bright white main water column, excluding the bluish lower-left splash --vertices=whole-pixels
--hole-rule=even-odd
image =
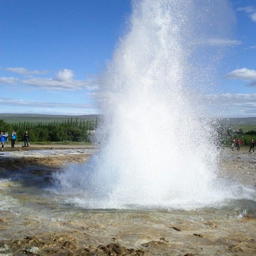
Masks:
[[[201,201],[213,179],[211,131],[183,87],[187,5],[136,3],[129,31],[100,77],[99,134],[107,141],[96,180],[105,173],[113,202]]]

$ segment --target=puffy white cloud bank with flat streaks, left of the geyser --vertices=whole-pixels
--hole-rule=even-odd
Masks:
[[[44,71],[33,70],[29,71],[24,68],[6,68],[9,71],[23,75],[28,74],[44,74]],[[59,70],[52,78],[33,77],[29,79],[20,79],[14,77],[0,77],[0,84],[26,84],[31,87],[36,87],[44,90],[78,90],[87,89],[95,90],[98,85],[95,79],[75,80],[73,79],[73,71],[68,69]]]

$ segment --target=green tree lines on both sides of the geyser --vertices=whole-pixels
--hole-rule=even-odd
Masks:
[[[98,125],[98,119],[85,120],[68,118],[62,122],[49,123],[29,123],[19,122],[9,124],[0,119],[0,131],[7,131],[9,134],[12,130],[17,133],[16,139],[23,140],[25,131],[28,131],[30,142],[90,142],[93,132]],[[241,128],[233,129],[231,127],[224,131],[224,127],[215,127],[219,145],[230,145],[231,137],[240,139],[242,145],[250,145],[250,140],[256,140],[256,131],[244,132]]]

